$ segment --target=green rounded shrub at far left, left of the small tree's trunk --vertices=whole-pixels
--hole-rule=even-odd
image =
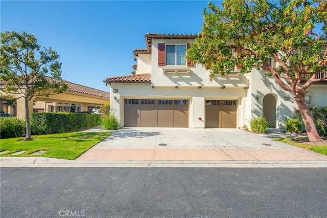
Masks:
[[[25,136],[26,121],[19,118],[0,118],[0,138],[15,138]]]

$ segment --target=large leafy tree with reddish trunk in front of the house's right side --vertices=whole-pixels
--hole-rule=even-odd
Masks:
[[[281,89],[292,92],[309,140],[322,140],[305,93],[312,83],[327,79],[323,74],[327,70],[327,1],[225,0],[222,8],[209,3],[203,17],[201,37],[186,57],[211,70],[210,78],[229,74],[236,66],[242,66],[243,74],[253,67],[266,70]]]

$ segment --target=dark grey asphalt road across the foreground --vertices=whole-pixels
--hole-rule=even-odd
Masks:
[[[327,168],[1,168],[3,217],[327,217]]]

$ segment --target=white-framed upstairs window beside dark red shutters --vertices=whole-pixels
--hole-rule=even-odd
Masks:
[[[186,45],[166,45],[166,65],[186,66]]]

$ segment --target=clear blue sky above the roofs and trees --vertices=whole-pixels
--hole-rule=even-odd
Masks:
[[[220,1],[213,1],[216,5]],[[146,33],[197,34],[208,1],[1,1],[1,32],[25,31],[60,55],[62,78],[109,92]]]

